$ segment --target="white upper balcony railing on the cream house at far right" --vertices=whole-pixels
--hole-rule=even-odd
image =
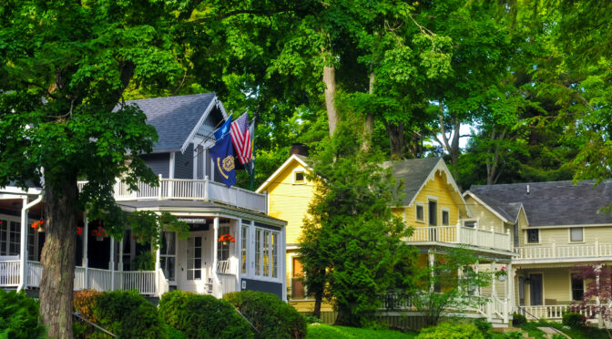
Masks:
[[[517,247],[518,259],[562,259],[562,258],[586,258],[612,255],[612,243],[576,244],[556,246],[555,243],[540,246]]]

